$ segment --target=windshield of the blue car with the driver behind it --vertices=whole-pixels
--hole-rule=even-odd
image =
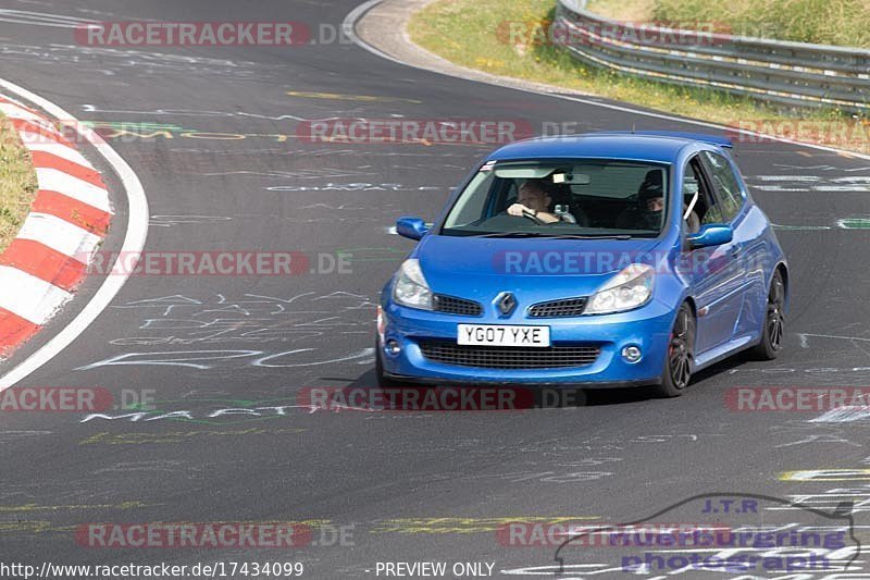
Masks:
[[[488,162],[457,197],[442,235],[656,237],[668,166],[620,160]]]

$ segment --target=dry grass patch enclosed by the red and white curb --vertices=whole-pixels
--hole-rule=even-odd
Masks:
[[[36,189],[30,155],[9,120],[0,115],[0,251],[18,233]]]

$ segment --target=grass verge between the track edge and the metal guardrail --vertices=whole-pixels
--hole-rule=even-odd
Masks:
[[[626,13],[639,10],[644,1],[651,0],[630,0]],[[414,14],[408,32],[414,42],[457,64],[723,125],[756,120],[795,121],[798,116],[811,123],[856,123],[833,110],[798,113],[722,91],[643,81],[587,66],[547,41],[545,30],[555,5],[556,0],[440,0]],[[510,23],[522,26],[511,28]],[[511,29],[522,34],[511,35]],[[866,136],[867,127],[860,128],[852,134]],[[868,140],[831,145],[868,151]]]

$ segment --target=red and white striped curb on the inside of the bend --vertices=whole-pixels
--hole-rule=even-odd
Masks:
[[[17,237],[0,254],[0,357],[33,336],[87,273],[112,218],[109,192],[42,114],[0,96],[0,112],[30,151],[38,190]]]

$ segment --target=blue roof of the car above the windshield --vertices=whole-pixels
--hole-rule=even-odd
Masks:
[[[714,135],[626,131],[523,139],[494,151],[487,160],[596,158],[673,163],[684,147],[698,143],[731,147],[730,139]]]

